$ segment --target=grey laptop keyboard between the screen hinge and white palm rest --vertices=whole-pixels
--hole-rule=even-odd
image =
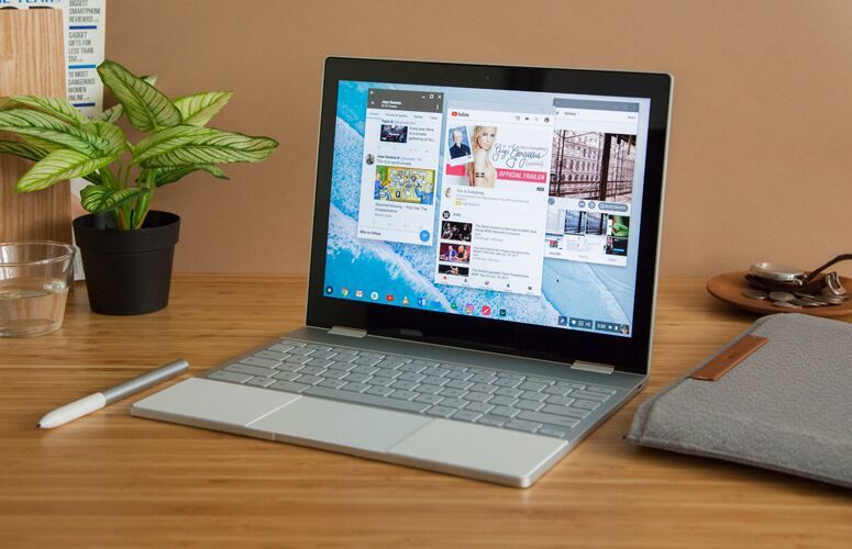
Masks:
[[[567,439],[618,392],[295,339],[207,378]]]

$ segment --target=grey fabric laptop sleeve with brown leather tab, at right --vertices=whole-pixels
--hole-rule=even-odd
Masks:
[[[852,324],[777,314],[730,345],[746,335],[770,340],[717,381],[687,374],[644,402],[628,440],[852,488]]]

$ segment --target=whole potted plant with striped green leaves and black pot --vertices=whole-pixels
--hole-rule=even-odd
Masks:
[[[82,208],[74,220],[92,311],[142,314],[168,303],[171,258],[180,220],[152,211],[157,189],[193,171],[228,179],[218,165],[257,163],[278,143],[208,127],[231,99],[207,91],[169,100],[154,77],[136,77],[118,63],[98,67],[118,104],[88,119],[68,101],[34,96],[0,98],[0,153],[33,160],[16,192],[32,192],[70,178],[85,178]],[[144,132],[128,142],[115,124],[122,115]]]

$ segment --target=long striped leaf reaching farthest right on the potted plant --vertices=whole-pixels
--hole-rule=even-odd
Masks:
[[[268,137],[223,132],[210,127],[176,126],[142,139],[134,149],[134,164],[143,168],[257,163],[278,146]]]

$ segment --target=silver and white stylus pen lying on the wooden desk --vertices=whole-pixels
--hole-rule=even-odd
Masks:
[[[82,417],[86,414],[91,414],[96,410],[100,410],[107,404],[121,400],[131,394],[144,391],[145,389],[156,385],[161,381],[165,381],[169,378],[174,378],[178,373],[182,373],[189,368],[189,362],[181,358],[169,365],[152,370],[147,373],[143,373],[139,378],[133,378],[130,381],[120,383],[115,386],[104,389],[103,391],[89,396],[84,396],[79,401],[74,401],[70,404],[58,407],[42,417],[36,427],[42,429],[52,429],[59,425],[65,425],[68,422],[73,422],[78,417]]]

